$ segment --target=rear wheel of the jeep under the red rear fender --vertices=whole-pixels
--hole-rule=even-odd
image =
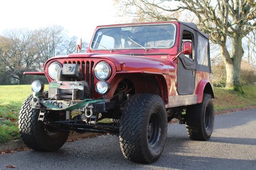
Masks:
[[[205,93],[200,104],[187,106],[186,129],[190,139],[208,140],[214,130],[214,103]]]

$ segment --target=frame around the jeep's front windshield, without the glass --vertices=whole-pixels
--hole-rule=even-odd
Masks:
[[[173,42],[172,44],[170,44],[169,46],[165,46],[165,47],[144,47],[142,46],[141,44],[135,47],[129,47],[129,48],[110,48],[110,47],[105,47],[104,44],[98,44],[99,46],[101,46],[102,48],[98,49],[98,48],[94,48],[95,43],[97,41],[97,33],[99,30],[101,29],[111,29],[111,28],[130,28],[130,27],[140,27],[140,26],[161,26],[161,25],[172,25],[174,27],[174,30],[173,30]],[[176,43],[176,37],[177,37],[177,25],[175,23],[154,23],[154,24],[138,24],[138,25],[116,25],[116,26],[102,26],[102,27],[99,27],[95,30],[94,32],[94,35],[93,35],[93,38],[91,40],[91,44],[90,44],[90,49],[93,50],[93,51],[115,51],[115,50],[145,50],[147,51],[148,49],[168,49],[168,48],[172,48],[175,43]],[[127,38],[130,38],[130,37],[127,37]],[[133,42],[134,43],[134,42]],[[135,43],[136,44],[136,43]]]

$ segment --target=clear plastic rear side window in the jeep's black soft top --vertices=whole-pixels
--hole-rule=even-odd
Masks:
[[[198,58],[197,62],[200,65],[208,66],[208,40],[202,36],[198,36]]]

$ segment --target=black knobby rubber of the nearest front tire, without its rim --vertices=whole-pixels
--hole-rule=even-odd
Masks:
[[[135,94],[127,101],[121,115],[119,128],[120,147],[125,158],[139,163],[151,163],[160,157],[167,133],[167,117],[165,137],[162,149],[159,151],[160,154],[157,153],[158,155],[151,157],[151,153],[145,149],[147,146],[141,137],[145,132],[145,129],[142,129],[142,124],[146,119],[146,115],[141,112],[149,113],[151,106],[159,101],[164,106],[160,96],[152,94]]]

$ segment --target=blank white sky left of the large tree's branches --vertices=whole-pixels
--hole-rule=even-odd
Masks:
[[[0,34],[59,25],[89,42],[96,26],[120,23],[116,15],[114,0],[1,0]]]

